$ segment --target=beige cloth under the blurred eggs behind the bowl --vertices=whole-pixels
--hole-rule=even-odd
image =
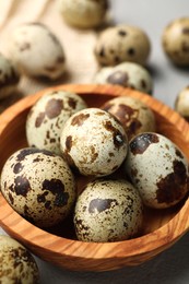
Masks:
[[[56,82],[22,76],[17,94],[1,100],[0,111],[22,96],[52,84],[92,83],[97,71],[93,51],[97,32],[78,29],[66,24],[59,11],[59,1],[56,0],[0,0],[0,51],[2,54],[7,55],[7,44],[13,28],[25,22],[42,22],[58,36],[67,57],[67,72]]]

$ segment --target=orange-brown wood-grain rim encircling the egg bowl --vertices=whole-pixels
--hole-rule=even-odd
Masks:
[[[189,125],[182,119],[176,111],[172,108],[160,102],[158,99],[151,97],[147,94],[133,91],[130,88],[125,88],[121,86],[113,86],[113,85],[93,85],[93,84],[67,84],[59,85],[45,88],[43,91],[37,92],[36,94],[29,95],[22,98],[17,103],[13,104],[9,108],[7,108],[0,115],[0,137],[3,133],[3,130],[15,116],[21,114],[23,110],[29,108],[43,94],[44,92],[49,91],[70,91],[76,92],[79,95],[82,94],[104,94],[104,95],[113,95],[121,96],[121,95],[130,95],[134,97],[141,98],[141,94],[143,97],[143,102],[146,103],[154,111],[161,109],[161,115],[164,115],[168,111],[168,119],[174,123],[178,125],[178,129],[182,129],[181,131],[187,131],[186,139],[189,142]],[[155,102],[155,104],[154,104]],[[155,107],[154,107],[155,106]],[[189,199],[186,200],[181,210],[176,213],[176,215],[165,225],[155,229],[152,233],[149,233],[144,236],[140,236],[138,238],[123,240],[123,241],[115,241],[115,242],[85,242],[80,240],[67,239],[51,233],[47,233],[46,230],[36,227],[35,225],[27,222],[25,218],[21,217],[5,201],[3,196],[0,193],[0,206],[2,208],[0,213],[0,226],[10,235],[14,236],[16,239],[22,240],[24,245],[29,247],[34,253],[36,253],[37,249],[42,246],[38,245],[38,240],[43,244],[44,232],[47,234],[44,239],[43,250],[48,250],[51,253],[57,256],[69,256],[70,247],[72,248],[71,257],[78,259],[95,259],[96,261],[102,258],[102,250],[104,251],[103,259],[125,259],[131,258],[130,264],[132,264],[132,257],[134,256],[145,256],[146,260],[151,259],[162,250],[168,248],[172,244],[177,241],[189,228],[189,218],[186,217],[186,213],[189,212]],[[185,222],[181,222],[185,218]],[[16,220],[16,222],[15,222]],[[19,234],[20,229],[23,227],[27,234],[25,236],[21,236]],[[174,228],[174,229],[173,229]],[[55,244],[58,245],[55,248]],[[141,245],[142,244],[142,245]],[[82,247],[82,248],[81,248]],[[88,250],[90,247],[90,250]],[[86,251],[88,255],[86,256]],[[91,252],[90,252],[91,251]],[[36,253],[37,255],[37,253]],[[40,255],[39,255],[40,257]],[[55,261],[56,262],[56,261]],[[57,260],[58,264],[58,260]],[[75,264],[76,265],[76,264]],[[110,270],[113,268],[108,268]]]

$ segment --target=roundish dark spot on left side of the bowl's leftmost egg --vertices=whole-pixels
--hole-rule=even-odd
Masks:
[[[26,198],[27,192],[31,190],[31,185],[29,181],[26,177],[23,176],[17,176],[14,179],[14,192],[16,193],[16,196],[23,196],[24,198]]]

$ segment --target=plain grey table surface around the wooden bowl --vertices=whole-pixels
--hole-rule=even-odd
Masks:
[[[142,27],[150,36],[152,52],[149,60],[154,80],[154,96],[174,107],[177,94],[189,84],[189,69],[176,68],[165,57],[161,36],[164,27],[174,19],[189,16],[188,0],[111,0],[116,23]],[[0,234],[4,232],[0,228]],[[36,257],[42,284],[188,284],[189,234],[154,259],[132,268],[110,272],[67,271]]]

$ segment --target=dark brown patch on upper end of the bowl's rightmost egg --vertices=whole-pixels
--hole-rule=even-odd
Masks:
[[[151,144],[158,141],[158,135],[155,133],[141,133],[131,141],[130,151],[133,155],[143,154]]]

